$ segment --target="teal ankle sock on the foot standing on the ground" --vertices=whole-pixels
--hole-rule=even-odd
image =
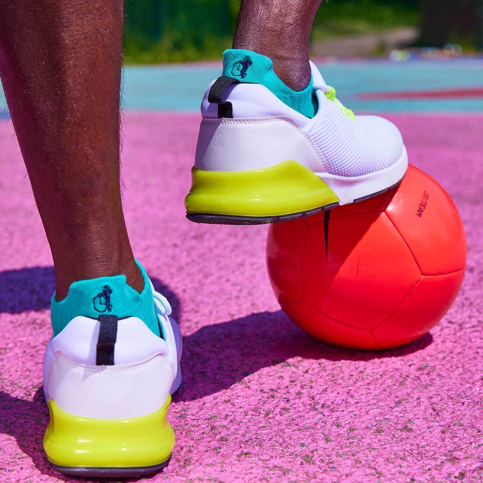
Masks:
[[[51,319],[54,335],[57,335],[74,317],[83,315],[93,319],[99,315],[116,315],[117,318],[139,317],[157,336],[159,325],[154,309],[153,293],[146,270],[136,260],[144,280],[139,293],[126,283],[126,275],[99,277],[74,282],[67,297],[57,302],[51,300]]]

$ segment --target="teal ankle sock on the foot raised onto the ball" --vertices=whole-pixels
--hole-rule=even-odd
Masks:
[[[228,49],[223,52],[223,75],[240,82],[265,85],[287,106],[307,117],[315,115],[312,99],[312,76],[309,85],[294,91],[285,85],[273,71],[269,57],[245,49]]]

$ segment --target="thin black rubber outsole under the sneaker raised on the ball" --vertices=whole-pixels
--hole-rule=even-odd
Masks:
[[[352,203],[358,203],[359,201],[364,201],[366,199],[382,195],[386,191],[389,191],[398,186],[399,183],[400,181],[398,181],[398,183],[396,183],[395,185],[378,191],[377,193],[357,198]],[[195,223],[208,223],[210,225],[266,225],[267,223],[282,223],[284,221],[298,220],[299,218],[312,216],[316,213],[333,210],[337,206],[339,206],[339,202],[330,203],[328,205],[320,206],[319,208],[313,208],[312,210],[298,213],[282,214],[278,216],[240,216],[216,213],[186,213],[186,218],[189,221],[193,221]]]

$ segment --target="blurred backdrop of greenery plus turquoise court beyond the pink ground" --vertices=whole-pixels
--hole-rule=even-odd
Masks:
[[[125,0],[123,108],[199,112],[240,4]],[[483,112],[482,48],[483,0],[324,0],[311,34],[312,60],[356,113]]]

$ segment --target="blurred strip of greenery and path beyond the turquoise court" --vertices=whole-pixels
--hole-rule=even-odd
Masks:
[[[231,47],[240,0],[127,0],[127,64],[219,59]],[[475,55],[483,47],[483,0],[325,0],[313,56],[406,60]]]

